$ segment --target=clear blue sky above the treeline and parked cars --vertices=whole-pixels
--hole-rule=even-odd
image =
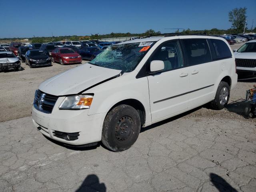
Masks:
[[[244,6],[251,28],[256,0],[0,0],[0,38],[228,29],[228,12]]]

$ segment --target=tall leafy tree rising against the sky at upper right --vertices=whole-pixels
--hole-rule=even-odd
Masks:
[[[232,23],[233,29],[242,30],[244,28],[244,22],[246,20],[246,10],[246,7],[240,7],[235,8],[228,13],[228,21]]]

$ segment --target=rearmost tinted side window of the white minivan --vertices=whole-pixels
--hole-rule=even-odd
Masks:
[[[210,39],[210,41],[212,42],[212,46],[214,49],[214,60],[232,57],[230,49],[228,48],[228,45],[224,41],[219,39]]]

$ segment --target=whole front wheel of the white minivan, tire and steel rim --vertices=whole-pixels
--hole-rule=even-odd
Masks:
[[[114,152],[130,148],[140,133],[140,116],[129,105],[119,105],[106,116],[102,128],[102,143]]]

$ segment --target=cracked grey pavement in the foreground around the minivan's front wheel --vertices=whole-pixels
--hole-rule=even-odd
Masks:
[[[190,112],[191,113],[191,112]],[[0,191],[255,192],[256,125],[236,118],[171,118],[142,128],[124,152],[68,148],[31,117],[0,123]]]

